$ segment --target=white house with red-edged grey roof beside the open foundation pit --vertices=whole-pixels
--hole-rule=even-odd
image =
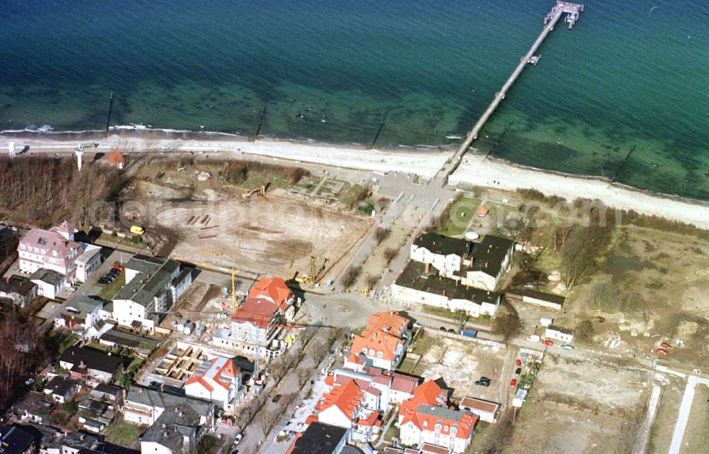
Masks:
[[[184,384],[185,394],[216,403],[225,411],[238,404],[242,374],[233,358],[218,356],[202,362]]]

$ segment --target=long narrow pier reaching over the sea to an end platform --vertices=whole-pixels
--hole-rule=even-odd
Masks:
[[[493,114],[495,109],[497,109],[497,106],[500,105],[500,102],[505,99],[505,96],[507,94],[507,91],[512,87],[512,84],[515,83],[518,77],[520,77],[520,74],[522,74],[522,71],[525,69],[528,63],[533,63],[536,65],[536,62],[539,60],[538,57],[535,57],[535,53],[537,52],[537,49],[539,49],[540,45],[544,42],[545,38],[547,38],[547,35],[549,35],[549,32],[554,30],[554,26],[557,25],[557,22],[559,22],[559,19],[566,14],[566,18],[564,18],[564,22],[569,24],[569,30],[574,27],[574,24],[576,21],[579,20],[579,15],[581,12],[584,11],[584,5],[581,4],[576,4],[576,3],[569,3],[568,1],[557,1],[557,4],[554,5],[554,8],[552,8],[552,11],[550,11],[547,16],[544,18],[544,28],[542,28],[542,33],[537,37],[535,40],[534,44],[532,44],[532,47],[530,48],[529,51],[525,54],[524,57],[520,60],[520,64],[517,65],[515,70],[512,72],[510,77],[507,79],[505,84],[502,86],[502,89],[495,94],[495,99],[492,100],[490,103],[490,106],[486,109],[484,114],[480,117],[480,119],[475,123],[475,126],[471,129],[471,131],[468,133],[467,137],[465,138],[464,142],[462,145],[460,145],[460,148],[458,149],[456,155],[457,155],[457,160],[461,160],[463,155],[465,154],[466,150],[470,147],[470,144],[478,138],[478,134],[480,133],[480,130],[485,126],[485,123],[489,120],[490,116]]]

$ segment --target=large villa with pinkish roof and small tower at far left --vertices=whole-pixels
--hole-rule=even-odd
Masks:
[[[84,250],[74,241],[74,228],[64,221],[50,230],[33,228],[20,240],[17,252],[21,272],[30,275],[45,268],[73,280],[77,272],[75,261]]]

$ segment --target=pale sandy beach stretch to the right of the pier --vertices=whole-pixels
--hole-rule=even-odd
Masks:
[[[599,199],[607,206],[635,210],[638,213],[691,223],[709,228],[709,204],[689,203],[669,197],[654,196],[634,189],[608,184],[592,177],[572,177],[543,170],[532,170],[507,162],[484,159],[481,155],[465,155],[450,176],[449,183],[459,183],[515,190],[537,189],[572,201],[578,198]]]

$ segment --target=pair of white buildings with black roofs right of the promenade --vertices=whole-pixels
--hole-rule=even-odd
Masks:
[[[392,297],[474,317],[493,316],[501,301],[495,290],[514,247],[513,240],[492,235],[474,243],[422,233],[411,244],[410,260],[391,287]]]

